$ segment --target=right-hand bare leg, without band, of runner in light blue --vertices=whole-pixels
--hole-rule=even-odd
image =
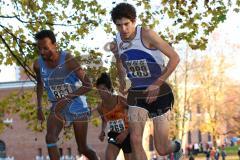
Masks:
[[[97,160],[96,152],[87,145],[88,118],[75,120],[73,122],[73,128],[79,154],[83,154],[89,160]]]

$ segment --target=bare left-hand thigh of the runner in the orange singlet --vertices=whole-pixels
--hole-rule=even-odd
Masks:
[[[118,153],[120,149],[111,143],[108,143],[106,151],[105,151],[105,160],[115,160],[117,159]]]

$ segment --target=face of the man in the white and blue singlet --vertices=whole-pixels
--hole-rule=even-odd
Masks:
[[[123,39],[131,39],[135,34],[135,21],[131,21],[128,18],[121,18],[116,20],[116,26],[118,32]]]

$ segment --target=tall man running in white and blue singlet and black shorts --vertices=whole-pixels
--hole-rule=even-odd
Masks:
[[[151,29],[136,26],[136,10],[128,3],[120,3],[111,11],[118,33],[110,49],[115,55],[120,82],[120,92],[125,94],[124,74],[131,81],[127,93],[129,129],[133,155],[136,160],[146,160],[142,136],[148,117],[153,119],[154,144],[164,156],[174,152],[182,157],[181,143],[170,141],[167,115],[174,97],[165,82],[179,63],[178,54]],[[163,55],[169,58],[164,67]]]

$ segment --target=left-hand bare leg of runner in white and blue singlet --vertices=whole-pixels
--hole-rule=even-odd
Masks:
[[[147,160],[142,146],[142,137],[145,123],[148,119],[148,111],[140,107],[129,107],[129,130],[133,159]]]

